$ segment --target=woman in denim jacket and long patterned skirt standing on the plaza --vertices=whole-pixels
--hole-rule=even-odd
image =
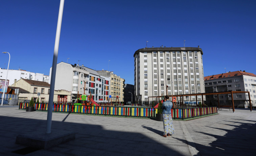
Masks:
[[[172,125],[172,117],[171,117],[171,107],[172,107],[172,102],[169,101],[169,95],[166,95],[165,101],[163,102],[163,105],[162,105],[164,137],[166,137],[167,135],[170,136],[170,134],[174,134],[174,128]]]

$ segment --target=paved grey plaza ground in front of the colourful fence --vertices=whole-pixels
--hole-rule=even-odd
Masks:
[[[151,119],[52,114],[52,129],[76,132],[76,139],[29,156],[61,155],[256,155],[256,111],[229,109],[190,121],[173,121],[175,134],[163,137],[163,122]],[[0,106],[0,155],[26,146],[18,134],[46,130],[47,112]]]

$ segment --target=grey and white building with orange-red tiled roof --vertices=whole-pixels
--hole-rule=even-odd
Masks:
[[[217,75],[204,77],[205,91],[208,92],[226,92],[226,91],[249,91],[251,102],[256,102],[256,75],[244,71],[233,71]],[[217,95],[206,95],[207,101],[217,102]],[[247,93],[233,95],[235,103],[249,101]],[[220,103],[229,103],[231,94],[219,95]]]

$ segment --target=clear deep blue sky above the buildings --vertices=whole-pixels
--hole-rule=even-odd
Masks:
[[[9,69],[49,75],[60,0],[0,1],[0,52]],[[58,63],[114,71],[134,84],[136,50],[197,47],[204,75],[246,70],[256,74],[254,0],[65,0]],[[0,53],[7,69],[8,54]],[[111,60],[111,61],[109,61]],[[108,67],[109,63],[109,67]]]

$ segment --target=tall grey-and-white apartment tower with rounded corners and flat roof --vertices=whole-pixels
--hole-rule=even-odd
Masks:
[[[204,93],[202,55],[199,47],[137,50],[134,53],[135,101],[143,103],[150,96],[166,94]],[[197,98],[200,100],[202,97]],[[157,98],[149,99],[152,100]],[[195,101],[195,96],[186,96],[184,100]]]

